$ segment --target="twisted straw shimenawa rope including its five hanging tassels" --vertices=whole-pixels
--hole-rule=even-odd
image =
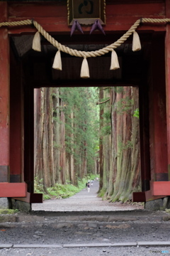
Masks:
[[[101,56],[111,51],[112,54],[111,54],[110,69],[115,70],[119,68],[119,64],[118,64],[118,56],[115,53],[114,49],[120,46],[122,43],[124,43],[127,40],[127,38],[129,38],[129,36],[132,35],[132,33],[133,33],[132,50],[136,51],[141,49],[140,38],[137,32],[135,31],[136,28],[140,25],[140,23],[167,23],[167,22],[170,22],[170,18],[140,18],[137,21],[135,21],[135,23],[130,27],[130,29],[123,36],[121,36],[118,39],[118,41],[115,41],[115,43],[112,43],[110,46],[104,47],[100,50],[87,51],[87,52],[81,51],[81,50],[75,50],[62,45],[57,40],[55,40],[55,38],[52,38],[52,36],[50,36],[50,34],[47,33],[47,31],[45,31],[42,28],[42,26],[40,26],[40,24],[34,20],[2,22],[0,23],[0,27],[1,26],[23,26],[23,25],[33,24],[35,28],[37,28],[38,30],[38,32],[35,33],[35,36],[33,38],[33,49],[38,51],[41,50],[40,33],[42,34],[42,36],[44,36],[47,39],[47,41],[49,41],[52,44],[52,46],[55,46],[58,49],[55,55],[55,61],[52,65],[52,68],[62,70],[62,61],[61,61],[61,55],[60,55],[60,51],[62,51],[64,53],[68,53],[69,55],[84,58],[83,63],[81,65],[80,76],[81,78],[89,78],[89,66],[86,58]]]

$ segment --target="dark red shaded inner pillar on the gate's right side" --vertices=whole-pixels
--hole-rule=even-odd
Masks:
[[[164,36],[152,36],[152,79],[149,82],[151,181],[168,181]],[[161,196],[161,195],[160,195]]]

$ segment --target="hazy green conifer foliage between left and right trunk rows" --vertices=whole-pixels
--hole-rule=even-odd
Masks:
[[[66,152],[74,156],[74,164],[86,157],[87,171],[99,149],[99,106],[96,87],[62,87],[60,98],[64,102]],[[73,118],[72,118],[73,117]]]

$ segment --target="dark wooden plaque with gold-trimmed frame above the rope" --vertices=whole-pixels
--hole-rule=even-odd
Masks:
[[[67,0],[67,6],[69,25],[75,20],[84,25],[91,25],[96,19],[106,23],[105,0]]]

